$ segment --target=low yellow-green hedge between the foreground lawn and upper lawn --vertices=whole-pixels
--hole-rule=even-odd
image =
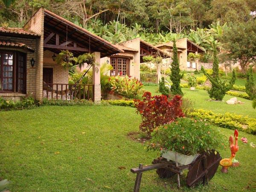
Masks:
[[[212,111],[197,109],[191,113],[191,116],[206,119],[219,127],[238,129],[247,133],[256,134],[256,119],[243,117],[234,113],[213,113]]]

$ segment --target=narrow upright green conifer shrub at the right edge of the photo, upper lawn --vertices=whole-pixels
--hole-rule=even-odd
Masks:
[[[245,91],[251,99],[256,98],[256,84],[253,78],[253,67],[250,66],[246,73]]]

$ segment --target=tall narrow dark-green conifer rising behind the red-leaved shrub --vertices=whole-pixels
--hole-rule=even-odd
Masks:
[[[180,87],[180,79],[182,75],[180,75],[180,64],[178,60],[178,49],[176,46],[176,40],[173,40],[173,56],[172,56],[172,64],[171,64],[171,74],[170,79],[172,81],[171,92],[173,95],[183,95]]]

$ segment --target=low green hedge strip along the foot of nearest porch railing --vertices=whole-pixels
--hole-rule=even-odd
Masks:
[[[45,106],[73,106],[73,105],[93,105],[92,101],[86,99],[75,99],[75,100],[61,100],[61,99],[43,99],[42,105]]]

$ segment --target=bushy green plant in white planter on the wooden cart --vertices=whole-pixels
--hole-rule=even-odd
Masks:
[[[188,165],[204,151],[223,146],[224,135],[203,120],[178,118],[175,122],[156,128],[148,149],[160,150],[162,157]],[[176,158],[175,158],[176,154]]]

